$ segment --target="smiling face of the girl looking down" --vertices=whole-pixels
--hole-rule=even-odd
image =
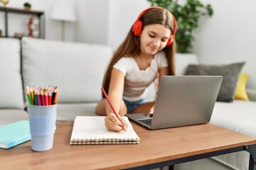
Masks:
[[[144,26],[140,35],[140,47],[146,55],[155,55],[164,49],[169,38],[171,30],[161,24],[151,24]]]

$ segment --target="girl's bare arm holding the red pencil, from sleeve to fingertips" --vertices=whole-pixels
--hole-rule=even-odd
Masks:
[[[114,132],[127,130],[127,123],[120,115],[120,113],[123,112],[123,111],[120,111],[123,91],[124,91],[124,74],[117,69],[112,69],[108,97],[110,98],[112,106],[114,107],[115,111],[119,116],[119,119],[122,122],[118,120],[117,116],[114,115],[110,105],[107,104],[106,106],[107,117],[105,118],[105,125],[107,130],[114,131]]]

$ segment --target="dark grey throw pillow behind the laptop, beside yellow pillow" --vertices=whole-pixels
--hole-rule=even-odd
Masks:
[[[217,101],[233,101],[238,77],[245,62],[222,65],[190,64],[186,75],[223,76]]]

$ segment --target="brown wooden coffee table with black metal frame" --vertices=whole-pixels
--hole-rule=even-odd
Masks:
[[[256,169],[256,139],[216,125],[146,130],[132,123],[138,145],[69,145],[73,122],[57,123],[53,149],[33,152],[31,142],[0,149],[1,169],[153,169],[245,150]]]

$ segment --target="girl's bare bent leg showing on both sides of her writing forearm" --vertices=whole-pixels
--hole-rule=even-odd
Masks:
[[[103,99],[102,101],[97,103],[97,106],[96,106],[96,109],[95,109],[95,113],[97,115],[106,115],[106,104],[107,105],[109,104],[109,103],[107,103],[106,99]],[[120,106],[119,115],[126,115],[126,114],[127,114],[127,107],[125,106],[125,103],[122,100],[121,106]]]

